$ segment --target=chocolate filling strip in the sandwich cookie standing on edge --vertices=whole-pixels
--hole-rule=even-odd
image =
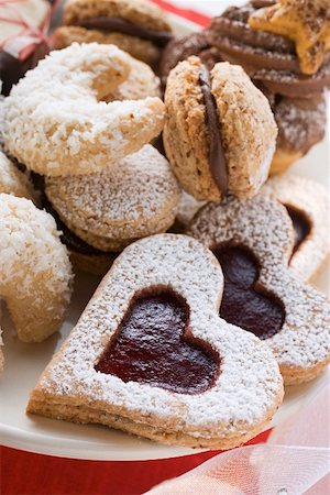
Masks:
[[[206,106],[209,166],[217,186],[224,194],[228,190],[228,170],[221,141],[221,123],[218,117],[217,102],[211,91],[209,72],[205,65],[200,66],[199,82]]]

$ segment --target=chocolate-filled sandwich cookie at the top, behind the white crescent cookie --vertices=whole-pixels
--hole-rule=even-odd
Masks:
[[[152,66],[172,38],[166,12],[148,0],[69,0],[64,24],[54,33],[56,48],[111,43]]]

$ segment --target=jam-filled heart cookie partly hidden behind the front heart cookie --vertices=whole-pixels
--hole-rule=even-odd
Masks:
[[[288,270],[293,223],[283,205],[260,195],[209,204],[188,230],[221,264],[220,316],[265,340],[286,384],[315,378],[330,360],[327,298]]]

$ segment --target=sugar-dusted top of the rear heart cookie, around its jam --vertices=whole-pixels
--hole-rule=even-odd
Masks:
[[[283,302],[282,330],[266,340],[279,366],[304,370],[330,356],[330,307],[323,295],[288,271],[293,251],[293,224],[275,199],[257,196],[246,201],[232,197],[207,205],[188,231],[213,248],[233,242],[252,250],[260,261],[258,283]]]

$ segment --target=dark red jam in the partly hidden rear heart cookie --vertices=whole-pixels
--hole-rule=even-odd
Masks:
[[[224,276],[221,318],[263,340],[279,332],[284,307],[275,295],[257,286],[260,268],[252,252],[228,245],[216,248],[213,253]]]

